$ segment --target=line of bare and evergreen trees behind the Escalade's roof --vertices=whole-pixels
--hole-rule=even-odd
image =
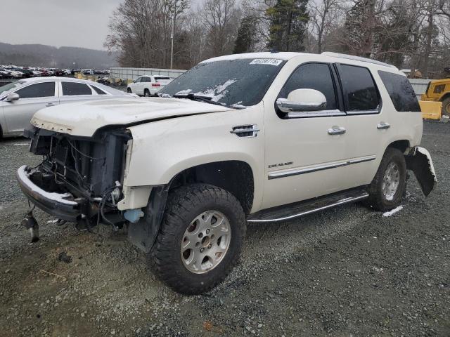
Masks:
[[[254,51],[335,51],[439,77],[450,67],[450,0],[124,0],[105,46],[124,67]],[[413,72],[414,73],[414,72]]]

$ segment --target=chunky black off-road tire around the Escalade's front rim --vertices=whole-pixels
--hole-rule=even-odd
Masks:
[[[211,270],[196,274],[181,260],[181,240],[191,222],[210,210],[223,213],[229,220],[231,239],[221,261]],[[233,194],[213,185],[185,185],[169,193],[161,230],[148,256],[152,259],[149,264],[174,291],[186,295],[204,293],[222,282],[238,263],[244,237],[245,215]]]

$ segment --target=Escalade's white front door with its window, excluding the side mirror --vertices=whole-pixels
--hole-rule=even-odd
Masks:
[[[266,183],[262,209],[345,190],[347,116],[338,96],[333,67],[306,63],[285,82],[278,98],[295,89],[321,91],[325,110],[285,114],[264,102]],[[338,131],[338,132],[335,132]]]

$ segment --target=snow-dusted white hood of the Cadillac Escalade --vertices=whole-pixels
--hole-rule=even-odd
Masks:
[[[93,136],[103,126],[231,110],[184,98],[115,98],[47,107],[36,112],[31,124],[74,136]]]

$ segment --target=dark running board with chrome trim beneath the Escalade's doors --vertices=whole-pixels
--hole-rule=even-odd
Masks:
[[[248,223],[271,223],[277,221],[290,220],[307,214],[330,209],[335,206],[348,204],[350,202],[366,199],[368,193],[366,190],[347,190],[338,194],[330,194],[326,197],[309,199],[307,201],[296,202],[278,206],[271,209],[264,209],[253,213],[247,219]]]

